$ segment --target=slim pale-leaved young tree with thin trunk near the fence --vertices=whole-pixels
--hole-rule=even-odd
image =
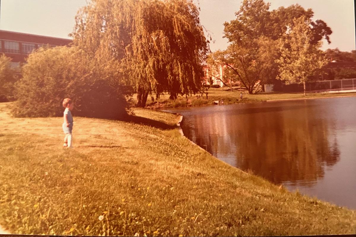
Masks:
[[[321,42],[312,43],[313,32],[310,20],[305,16],[294,18],[293,26],[279,42],[281,57],[276,60],[279,66],[278,79],[290,83],[305,83],[316,70],[326,65],[325,54],[320,50]]]

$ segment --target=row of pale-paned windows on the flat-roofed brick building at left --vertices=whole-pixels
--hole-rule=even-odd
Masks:
[[[4,49],[2,49],[2,42],[4,42]],[[20,50],[21,45],[21,50]],[[46,46],[47,44],[31,44],[31,43],[22,43],[22,42],[14,42],[7,40],[0,40],[0,51],[4,53],[10,54],[30,54],[36,48],[41,48]],[[56,45],[49,45],[50,47],[54,47]]]

